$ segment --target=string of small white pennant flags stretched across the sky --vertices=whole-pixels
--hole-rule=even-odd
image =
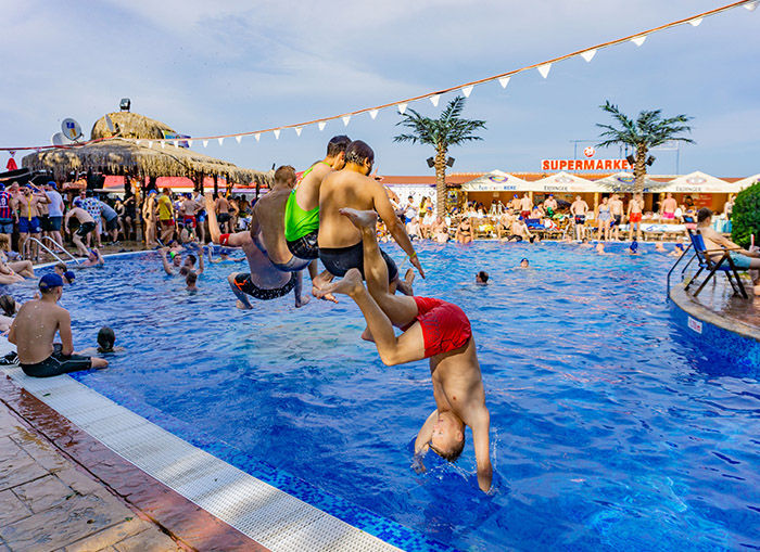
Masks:
[[[506,89],[507,85],[509,84],[509,79],[511,77],[514,77],[515,75],[517,75],[519,73],[525,73],[530,69],[537,69],[543,78],[547,78],[549,75],[549,70],[552,68],[552,65],[555,63],[559,63],[559,62],[562,62],[562,61],[566,61],[566,60],[569,60],[569,59],[575,57],[575,56],[581,56],[586,63],[590,63],[594,59],[594,56],[596,55],[598,50],[601,50],[604,48],[611,48],[613,46],[618,46],[618,44],[629,42],[629,41],[633,42],[637,47],[641,47],[642,44],[644,44],[644,41],[646,40],[646,38],[649,35],[653,35],[655,33],[660,33],[660,31],[668,30],[668,29],[673,28],[673,27],[677,27],[680,25],[687,25],[687,24],[693,26],[693,27],[697,27],[705,20],[705,17],[718,15],[718,14],[727,12],[727,11],[733,10],[735,8],[738,8],[738,7],[744,7],[747,10],[749,10],[750,12],[752,12],[757,9],[758,4],[760,4],[760,0],[740,0],[738,2],[730,3],[730,4],[723,5],[721,8],[715,8],[714,10],[710,10],[707,12],[699,13],[697,15],[693,15],[691,17],[674,21],[672,23],[668,23],[666,25],[661,25],[659,27],[655,27],[655,28],[651,28],[648,30],[639,31],[639,33],[636,33],[634,35],[629,35],[626,37],[622,37],[622,38],[619,38],[617,40],[611,40],[609,42],[596,44],[596,46],[593,46],[590,48],[585,48],[583,50],[571,52],[571,53],[566,54],[566,55],[560,55],[559,57],[555,57],[553,60],[547,60],[547,61],[544,61],[541,63],[535,63],[533,65],[527,65],[527,66],[521,67],[519,69],[509,70],[507,73],[502,73],[499,75],[493,75],[491,77],[485,77],[485,78],[482,78],[479,80],[473,80],[471,82],[465,82],[461,85],[453,86],[453,87],[438,90],[434,92],[428,92],[428,93],[417,95],[414,98],[407,98],[406,100],[395,101],[395,102],[387,103],[383,105],[377,105],[373,107],[365,107],[363,110],[358,110],[358,111],[354,111],[354,112],[350,112],[350,113],[342,113],[340,115],[333,115],[331,117],[322,117],[319,119],[308,120],[308,121],[304,121],[304,123],[283,125],[280,127],[273,127],[273,128],[267,128],[267,129],[262,129],[262,130],[252,130],[252,131],[248,131],[248,132],[238,132],[238,133],[220,134],[220,136],[207,136],[207,137],[194,137],[194,139],[202,140],[203,147],[206,147],[208,145],[210,140],[217,140],[219,142],[219,145],[221,145],[225,138],[235,138],[238,140],[238,143],[240,143],[240,141],[242,140],[242,137],[244,137],[244,136],[253,136],[256,139],[256,142],[258,142],[261,140],[262,134],[266,133],[266,132],[273,132],[275,134],[275,138],[279,139],[280,131],[283,128],[295,129],[296,134],[301,136],[301,129],[303,129],[303,127],[311,126],[311,125],[318,125],[319,130],[324,130],[326,124],[331,121],[331,120],[342,119],[343,125],[349,126],[349,121],[351,120],[351,117],[354,115],[359,115],[362,113],[369,113],[369,116],[372,119],[375,119],[381,110],[385,110],[385,108],[394,107],[394,106],[397,107],[398,113],[401,113],[403,115],[404,112],[406,111],[406,107],[411,102],[417,102],[419,100],[425,100],[427,98],[428,100],[430,100],[430,102],[434,106],[438,106],[442,94],[460,90],[461,93],[465,94],[466,98],[469,98],[470,94],[472,93],[472,90],[474,89],[474,87],[480,86],[480,85],[485,85],[487,82],[493,82],[493,81],[497,81],[499,85],[502,85],[502,88]],[[114,140],[114,139],[125,140],[125,139],[122,139],[118,137],[111,137],[111,138],[100,138],[97,140],[90,140],[87,142],[80,142],[77,144],[24,146],[24,147],[12,146],[12,147],[0,147],[0,151],[10,152],[10,151],[35,150],[35,151],[39,152],[41,150],[75,149],[75,147],[81,147],[83,145],[87,145],[90,143],[103,142],[103,141]],[[174,140],[155,140],[155,141],[160,142],[162,147],[165,147],[165,145],[166,145],[165,142],[167,142],[167,141],[172,144],[175,144],[175,142],[176,142]],[[140,143],[139,140],[136,142],[138,144]],[[191,140],[188,140],[188,143],[190,145],[192,145]],[[149,141],[148,147],[152,147],[152,146],[153,146],[153,142]]]

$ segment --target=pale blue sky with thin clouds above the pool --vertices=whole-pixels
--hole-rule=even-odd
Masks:
[[[725,2],[727,3],[727,1]],[[132,111],[178,132],[252,131],[338,115],[456,86],[723,5],[706,0],[549,0],[504,2],[278,2],[130,0],[3,5],[0,43],[0,145],[48,144],[65,117],[89,136],[94,120]],[[635,116],[694,117],[680,171],[720,177],[760,172],[760,9],[738,8],[650,36],[637,48],[601,50],[532,70],[506,90],[478,87],[465,116],[487,121],[482,142],[453,149],[456,171],[537,171],[542,158],[572,158],[571,140],[598,138],[598,108],[609,99]],[[410,106],[435,116],[428,100]],[[299,169],[321,158],[335,133],[368,142],[385,175],[432,174],[432,150],[395,144],[394,110],[377,119],[332,121],[301,137],[284,130],[241,144],[207,149],[239,166]],[[579,154],[582,147],[579,149]],[[617,150],[597,156],[617,157]],[[660,152],[654,174],[675,171],[674,152]],[[17,156],[20,158],[20,155]],[[0,154],[4,166],[5,153]]]

